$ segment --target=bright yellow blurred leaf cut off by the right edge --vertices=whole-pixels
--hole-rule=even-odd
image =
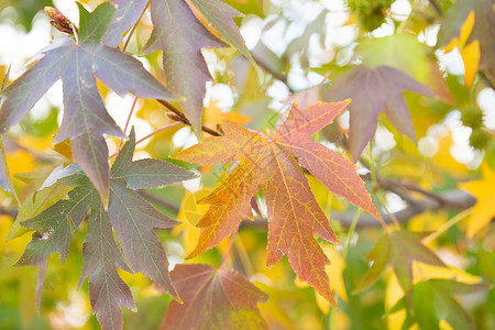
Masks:
[[[476,197],[476,205],[468,224],[468,237],[472,238],[476,232],[492,221],[495,217],[495,172],[487,163],[482,164],[483,179],[460,184],[461,189]]]

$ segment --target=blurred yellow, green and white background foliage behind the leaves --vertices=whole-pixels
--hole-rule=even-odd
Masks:
[[[72,2],[0,0],[1,77],[10,65],[9,81],[18,77],[29,57],[59,33],[47,23],[43,7],[56,6],[77,22]],[[80,2],[92,9],[101,1]],[[480,165],[483,162],[495,168],[495,94],[480,76],[472,86],[468,86],[461,54],[458,51],[446,54],[441,48],[443,45],[437,42],[439,23],[442,22],[439,10],[446,13],[452,6],[451,1],[435,1],[439,10],[422,0],[226,2],[245,14],[235,22],[258,65],[253,65],[233,48],[204,51],[215,76],[205,101],[206,125],[216,128],[221,119],[229,119],[262,132],[272,131],[279,114],[287,109],[289,96],[301,105],[312,103],[319,99],[320,84],[323,88],[332,84],[350,66],[360,63],[389,65],[408,73],[438,97],[405,92],[418,144],[381,118],[373,148],[365,150],[364,161],[374,162],[382,177],[408,180],[439,194],[457,188],[460,182],[482,179]],[[145,14],[127,51],[139,54],[151,29],[150,16]],[[493,29],[487,33],[493,34]],[[154,53],[140,59],[163,80],[161,56],[161,53]],[[51,169],[70,160],[67,147],[58,145],[56,152],[52,145],[52,136],[61,120],[61,86],[52,88],[21,124],[4,138],[9,168],[18,178],[14,179],[15,189],[23,204],[33,204],[35,212],[40,211],[36,209],[37,186],[26,184],[30,180],[25,174],[34,173],[31,183],[40,185]],[[99,88],[110,113],[123,127],[133,97],[120,98],[102,84]],[[174,122],[155,101],[138,100],[138,109],[131,119],[138,140]],[[349,155],[345,145],[348,133],[349,117],[344,114],[337,125],[326,128],[315,139]],[[134,158],[170,161],[169,154],[196,142],[188,127],[173,125],[141,143]],[[108,144],[110,153],[113,153],[119,140],[109,138]],[[173,231],[160,232],[172,264],[183,263],[197,242],[195,224],[206,207],[196,201],[229,173],[226,166],[180,165],[201,173],[201,178],[144,193],[160,210],[183,222]],[[23,177],[24,180],[19,179]],[[308,179],[318,202],[330,218],[332,212],[355,212],[352,206],[330,194],[312,177]],[[263,201],[261,193],[257,199]],[[405,201],[392,193],[385,194],[385,205],[375,197],[374,202],[392,212],[405,208]],[[82,263],[85,226],[75,233],[70,255],[64,265],[59,265],[57,257],[51,257],[38,315],[34,309],[36,270],[12,266],[22,254],[30,234],[6,243],[16,216],[15,206],[11,195],[0,191],[0,207],[4,213],[0,217],[0,329],[98,329],[90,311],[87,284],[76,290]],[[263,202],[257,202],[256,208],[260,217],[266,216]],[[458,212],[447,208],[428,210],[404,227],[411,231],[435,232]],[[271,270],[265,266],[266,228],[263,226],[246,226],[241,230],[229,262],[270,295],[270,300],[258,307],[272,329],[400,329],[406,312],[389,314],[404,295],[394,273],[387,272],[371,289],[352,294],[370,266],[365,256],[383,230],[358,227],[350,231],[348,226],[337,220],[331,222],[342,244],[320,244],[333,261],[328,272],[338,297],[337,309],[330,308],[312,288],[299,283],[286,261]],[[428,244],[451,265],[449,271],[416,264],[416,282],[441,277],[469,284],[484,282],[493,286],[493,221],[473,238],[465,235],[466,223],[466,220],[460,221]],[[219,266],[226,251],[227,242],[223,242],[193,262]],[[138,306],[136,312],[123,309],[125,329],[158,329],[170,298],[156,292],[140,274],[120,273],[131,287]],[[461,302],[479,329],[495,329],[493,288],[466,296]],[[441,329],[451,329],[449,327],[447,322],[440,323]]]

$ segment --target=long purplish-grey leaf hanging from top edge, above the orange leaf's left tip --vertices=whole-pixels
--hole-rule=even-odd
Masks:
[[[143,53],[163,51],[163,68],[167,86],[186,97],[180,106],[201,136],[202,99],[206,82],[211,79],[201,48],[226,45],[194,15],[184,0],[152,0],[153,32]]]

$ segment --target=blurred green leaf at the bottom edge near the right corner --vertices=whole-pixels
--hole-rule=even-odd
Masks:
[[[476,326],[470,315],[452,297],[487,290],[483,284],[465,284],[450,279],[429,279],[413,287],[413,306],[407,308],[404,297],[391,309],[391,314],[407,309],[407,318],[403,329],[409,329],[416,321],[419,329],[440,329],[439,323],[446,320],[453,330],[475,330]]]

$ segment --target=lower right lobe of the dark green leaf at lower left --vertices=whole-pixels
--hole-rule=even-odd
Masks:
[[[162,292],[179,299],[172,286],[165,250],[154,232],[178,222],[125,188],[124,180],[112,179],[110,190],[108,213],[129,266],[153,279]]]

